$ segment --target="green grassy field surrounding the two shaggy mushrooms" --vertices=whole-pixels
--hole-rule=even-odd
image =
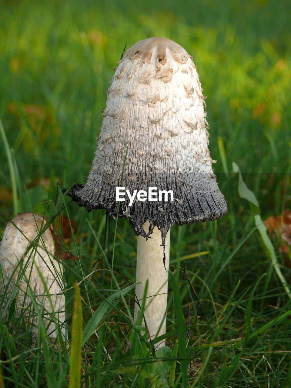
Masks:
[[[80,386],[80,363],[82,387],[291,386],[291,230],[287,217],[273,232],[264,227],[291,209],[291,3],[3,0],[0,8],[0,232],[17,212],[46,214],[78,257],[64,262],[68,346],[45,345],[41,331],[31,349],[29,330],[13,336],[0,323],[0,388]],[[150,36],[194,59],[229,208],[218,221],[171,229],[167,347],[156,353],[132,321],[132,227],[119,219],[115,235],[104,211],[87,213],[61,194],[86,182],[125,44]]]

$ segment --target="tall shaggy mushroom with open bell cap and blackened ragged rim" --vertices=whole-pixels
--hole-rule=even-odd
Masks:
[[[138,235],[137,298],[142,300],[148,279],[145,320],[151,336],[161,335],[170,228],[216,220],[227,211],[211,167],[205,97],[192,57],[166,38],[128,49],[106,92],[87,183],[74,185],[68,195],[87,211],[104,208],[114,220],[118,213],[132,224]],[[135,306],[135,320],[138,311]]]

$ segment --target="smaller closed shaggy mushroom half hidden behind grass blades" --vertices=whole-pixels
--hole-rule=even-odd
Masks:
[[[20,213],[5,228],[0,245],[2,274],[0,294],[3,296],[1,314],[7,320],[9,309],[15,304],[15,317],[25,317],[27,326],[32,327],[33,345],[36,344],[38,314],[29,298],[31,290],[44,316],[44,324],[50,337],[57,338],[55,321],[61,326],[62,340],[66,337],[65,296],[62,264],[56,255],[54,231],[45,229],[47,217],[36,213]],[[59,244],[59,238],[56,238]],[[23,332],[22,320],[16,321],[17,329]],[[60,337],[58,337],[60,338]]]

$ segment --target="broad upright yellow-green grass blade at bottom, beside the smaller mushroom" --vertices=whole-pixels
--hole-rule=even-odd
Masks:
[[[69,388],[79,388],[82,366],[82,330],[83,315],[78,284],[74,286],[74,312],[72,319],[72,341],[70,357],[70,381]]]

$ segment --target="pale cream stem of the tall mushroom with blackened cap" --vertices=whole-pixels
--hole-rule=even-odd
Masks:
[[[144,230],[148,230],[149,222],[145,222]],[[144,237],[137,237],[137,273],[135,293],[140,304],[144,295],[144,287],[149,280],[147,299],[145,302],[145,321],[151,338],[166,333],[166,307],[168,297],[168,270],[170,258],[170,230],[165,241],[165,267],[163,265],[164,250],[161,246],[161,232],[154,228],[151,238],[147,241]],[[140,311],[138,304],[135,304],[134,321]],[[143,321],[144,322],[144,321]],[[155,349],[165,346],[165,340],[159,341]]]

